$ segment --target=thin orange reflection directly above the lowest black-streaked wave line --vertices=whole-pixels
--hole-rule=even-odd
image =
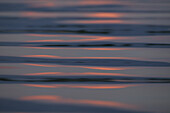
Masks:
[[[64,72],[42,72],[42,73],[28,73],[24,75],[109,75],[109,76],[129,76],[127,74],[120,73],[95,73],[95,72],[84,72],[84,73],[64,73]]]

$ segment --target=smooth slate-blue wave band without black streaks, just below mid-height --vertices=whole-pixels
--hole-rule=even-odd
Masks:
[[[78,65],[78,66],[151,66],[151,67],[169,67],[168,62],[142,61],[129,59],[48,59],[34,57],[14,57],[0,56],[0,63],[50,63],[61,65]]]

